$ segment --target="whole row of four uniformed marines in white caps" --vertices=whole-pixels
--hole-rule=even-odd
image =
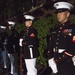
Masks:
[[[54,7],[59,25],[52,28],[49,40],[47,39],[48,65],[53,75],[75,75],[75,24],[69,21],[73,5],[68,2],[56,2]],[[24,18],[26,29],[20,33],[15,29],[14,21],[8,21],[7,27],[0,26],[0,58],[3,60],[0,70],[10,67],[8,75],[21,75],[18,59],[20,49],[27,69],[26,75],[38,74],[36,68],[36,59],[39,56],[38,31],[33,27],[35,17],[24,15]]]

